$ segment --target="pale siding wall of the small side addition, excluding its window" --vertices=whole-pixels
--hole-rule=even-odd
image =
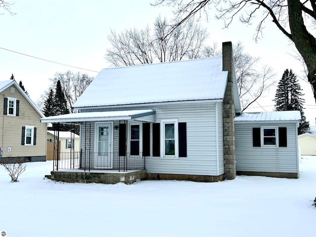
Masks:
[[[253,147],[252,128],[261,126],[286,127],[287,147]],[[235,122],[235,146],[237,171],[298,173],[296,123]]]

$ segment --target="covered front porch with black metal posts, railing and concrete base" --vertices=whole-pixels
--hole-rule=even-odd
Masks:
[[[145,157],[150,155],[145,147],[149,139],[145,141],[141,134],[144,134],[144,129],[149,134],[148,125],[154,121],[154,116],[153,110],[130,110],[42,118],[41,122],[50,122],[54,127],[51,178],[83,183],[131,183],[145,178]],[[60,152],[61,124],[67,124],[72,130],[79,127],[79,152],[74,151],[73,144],[69,152]]]

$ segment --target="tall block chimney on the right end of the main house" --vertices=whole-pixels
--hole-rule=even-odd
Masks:
[[[228,82],[226,86],[223,104],[224,122],[224,166],[225,179],[236,178],[235,157],[235,106],[233,93],[233,44],[223,42],[223,71],[228,71]]]

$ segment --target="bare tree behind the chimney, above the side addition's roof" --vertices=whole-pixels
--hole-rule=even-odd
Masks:
[[[206,57],[222,54],[216,42],[204,47],[202,52]],[[275,73],[267,65],[261,66],[260,69],[260,57],[253,57],[244,52],[244,46],[240,41],[233,45],[233,59],[239,98],[244,111],[269,91],[271,85],[275,83]]]

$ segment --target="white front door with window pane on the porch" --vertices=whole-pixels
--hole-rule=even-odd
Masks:
[[[96,124],[95,163],[97,169],[113,167],[111,123]]]

